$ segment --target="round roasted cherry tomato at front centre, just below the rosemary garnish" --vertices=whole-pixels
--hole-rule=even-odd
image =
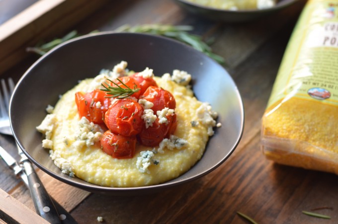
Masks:
[[[142,106],[132,99],[120,99],[111,104],[105,113],[104,123],[107,128],[123,136],[137,135],[141,132],[144,121]]]

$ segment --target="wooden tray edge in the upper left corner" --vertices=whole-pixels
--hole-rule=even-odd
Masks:
[[[24,59],[27,47],[68,32],[109,0],[38,0],[0,25],[0,75]]]

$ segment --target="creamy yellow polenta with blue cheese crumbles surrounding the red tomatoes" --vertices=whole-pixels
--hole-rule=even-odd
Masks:
[[[177,115],[177,128],[169,139],[158,147],[136,145],[135,156],[118,159],[103,152],[100,137],[104,129],[100,125],[80,118],[75,93],[100,88],[106,78],[127,74],[127,63],[121,62],[112,71],[102,70],[95,78],[87,78],[66,92],[37,130],[45,134],[43,148],[50,149],[54,163],[70,176],[108,187],[136,187],[169,181],[189,170],[203,155],[207,141],[214,134],[217,113],[208,103],[198,101],[188,86],[191,75],[174,70],[173,75],[154,76],[146,68],[140,74],[153,77],[159,87],[173,94],[175,109],[153,111],[152,103],[139,100],[144,108],[142,119],[147,127],[159,118],[166,123],[166,115]],[[113,101],[113,100],[111,100]],[[95,105],[100,107],[100,105]],[[220,125],[218,125],[220,126]]]

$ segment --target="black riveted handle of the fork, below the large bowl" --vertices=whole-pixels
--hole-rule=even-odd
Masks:
[[[54,203],[33,169],[32,164],[28,159],[22,161],[22,163],[27,174],[29,191],[37,214],[51,224],[61,224]]]

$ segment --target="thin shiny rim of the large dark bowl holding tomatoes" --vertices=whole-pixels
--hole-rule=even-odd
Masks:
[[[193,49],[192,47],[186,45],[186,44],[183,44],[179,41],[176,41],[176,40],[173,40],[173,39],[170,39],[170,38],[167,38],[167,37],[163,37],[163,36],[158,36],[158,35],[151,35],[151,34],[144,34],[144,33],[127,33],[127,32],[119,32],[119,33],[116,33],[114,31],[103,31],[103,32],[98,32],[98,33],[91,33],[91,34],[86,34],[86,35],[83,35],[83,36],[80,36],[80,37],[76,37],[74,39],[71,39],[69,41],[66,41],[58,46],[56,46],[55,48],[53,48],[52,50],[50,50],[48,53],[46,53],[45,55],[41,56],[35,63],[33,63],[32,66],[30,66],[30,68],[21,76],[21,78],[19,79],[19,81],[17,82],[15,88],[14,88],[14,93],[16,91],[16,88],[17,86],[20,84],[20,82],[25,78],[25,76],[27,74],[29,74],[29,72],[37,65],[39,64],[41,61],[43,61],[46,57],[49,57],[50,54],[53,54],[54,51],[57,51],[58,49],[60,48],[63,48],[69,44],[72,44],[73,42],[76,42],[78,40],[82,40],[82,39],[85,39],[85,38],[92,38],[92,37],[95,37],[95,36],[98,36],[98,35],[140,35],[140,36],[150,36],[152,38],[161,38],[161,39],[165,39],[166,41],[172,41],[174,42],[175,44],[179,44],[181,45],[182,48],[189,48],[190,50],[194,51],[195,54],[200,54],[202,55],[202,57],[206,57],[208,58],[209,60],[213,61],[214,63],[218,64],[215,60],[211,59],[210,57],[206,56],[205,54],[203,54],[202,52],[199,52],[195,49]],[[219,65],[219,64],[218,64]],[[220,67],[222,67],[221,65],[219,65]],[[222,67],[222,69],[226,72],[226,70]],[[227,73],[227,72],[226,72]],[[230,75],[229,75],[230,76]],[[202,177],[208,173],[210,173],[211,171],[215,170],[217,167],[219,167],[232,153],[233,151],[237,148],[238,144],[240,143],[240,140],[243,136],[243,132],[244,132],[244,104],[243,104],[243,100],[242,100],[242,97],[240,95],[240,92],[237,88],[237,85],[235,83],[235,81],[232,79],[232,77],[230,77],[231,80],[233,81],[234,83],[234,86],[236,87],[236,95],[238,96],[238,99],[240,100],[240,110],[241,110],[241,125],[240,125],[240,134],[238,136],[238,138],[236,139],[236,143],[233,145],[233,148],[230,150],[229,149],[229,152],[228,154],[222,158],[222,160],[220,160],[218,163],[214,164],[210,169],[208,170],[205,170],[204,172],[201,172],[199,174],[196,174],[196,175],[193,175],[189,178],[185,178],[185,179],[182,179],[180,180],[180,176],[182,176],[184,173],[182,173],[180,176],[174,178],[174,179],[171,179],[167,182],[164,182],[164,183],[161,183],[161,184],[156,184],[156,185],[149,185],[149,186],[140,186],[140,187],[106,187],[106,186],[100,186],[100,185],[96,185],[96,184],[92,184],[92,183],[89,183],[89,182],[86,182],[84,180],[84,183],[80,183],[80,182],[75,182],[75,181],[72,181],[71,179],[68,178],[68,176],[66,174],[64,174],[64,176],[62,176],[61,174],[57,174],[57,173],[54,173],[53,171],[49,170],[48,168],[44,167],[43,165],[41,165],[39,162],[37,162],[25,149],[24,147],[22,146],[21,142],[19,141],[17,135],[15,134],[13,128],[11,127],[12,129],[12,132],[13,132],[13,136],[18,144],[18,146],[20,147],[20,149],[24,152],[24,154],[29,158],[30,161],[32,161],[37,167],[39,167],[40,169],[42,169],[44,172],[46,172],[47,174],[49,174],[50,176],[64,182],[64,183],[67,183],[69,185],[72,185],[72,186],[75,186],[75,187],[78,187],[80,189],[83,189],[83,190],[86,190],[86,191],[89,191],[89,192],[93,192],[93,193],[107,193],[107,194],[113,194],[113,195],[118,195],[118,196],[129,196],[129,195],[142,195],[142,194],[150,194],[150,193],[155,193],[155,192],[158,192],[158,190],[162,190],[162,189],[165,189],[165,188],[169,188],[169,187],[173,187],[173,186],[177,186],[177,185],[180,185],[180,184],[183,184],[183,183],[187,183],[187,182],[190,182],[192,180],[195,180],[199,177]],[[14,94],[13,94],[14,95]],[[9,105],[9,108],[11,108],[11,101],[12,101],[12,98],[13,96],[11,97],[10,99],[10,105]],[[10,117],[10,115],[9,115]],[[10,119],[11,120],[11,119]],[[12,123],[12,121],[10,121],[10,124]],[[207,149],[207,147],[206,147]],[[204,154],[204,153],[203,153]],[[201,157],[201,159],[203,158],[203,155]],[[200,160],[201,160],[200,159]],[[197,161],[195,163],[195,165],[198,163],[199,161]],[[194,165],[194,166],[195,166]],[[191,167],[192,168],[192,167]],[[190,168],[190,169],[191,169]],[[187,170],[186,172],[188,172],[189,170]],[[66,177],[67,176],[67,177]],[[80,179],[80,178],[79,178]],[[80,179],[81,180],[81,179]],[[177,181],[175,181],[177,180]],[[154,191],[154,189],[156,189],[156,191]],[[136,193],[137,192],[137,193]],[[141,193],[142,192],[142,193]]]

